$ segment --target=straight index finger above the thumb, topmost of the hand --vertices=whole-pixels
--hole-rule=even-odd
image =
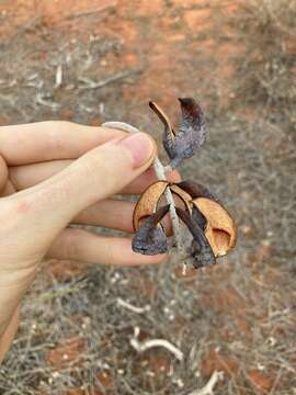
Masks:
[[[76,159],[125,132],[67,121],[45,121],[0,127],[0,154],[9,166],[54,159]]]

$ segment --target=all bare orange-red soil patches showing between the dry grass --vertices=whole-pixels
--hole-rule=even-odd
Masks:
[[[90,35],[115,37],[123,44],[121,56],[109,53],[100,60],[98,67],[105,68],[109,75],[130,67],[143,69],[137,86],[126,83],[122,87],[123,100],[132,108],[133,104],[147,101],[147,98],[161,100],[164,108],[175,106],[174,87],[185,92],[194,84],[194,87],[198,86],[200,94],[205,98],[205,106],[213,105],[207,95],[210,87],[218,88],[219,95],[215,105],[223,110],[234,100],[229,88],[234,66],[229,60],[243,54],[243,47],[228,40],[231,36],[231,27],[225,20],[219,19],[219,15],[221,13],[228,16],[235,15],[237,7],[238,1],[227,0],[170,0],[166,4],[163,0],[4,0],[0,2],[0,41],[13,40],[22,30],[30,29],[36,20],[47,31],[67,35],[69,40],[75,37],[83,42],[88,41]],[[217,10],[215,18],[213,18],[214,9]],[[217,30],[224,33],[225,41],[216,40]],[[34,35],[32,40],[35,40]],[[50,35],[48,40],[52,40]],[[43,57],[46,59],[47,49],[43,48]],[[196,61],[198,75],[195,71]],[[241,113],[249,119],[254,114],[250,109]],[[62,119],[72,119],[73,111],[62,109],[58,115]],[[100,116],[95,116],[90,123],[98,124],[100,121]],[[0,117],[0,124],[10,122],[13,123],[14,120],[5,115]],[[251,232],[247,227],[244,230],[246,234]],[[253,267],[261,264],[271,253],[269,246],[259,246],[253,253],[251,264]],[[70,275],[81,274],[84,269],[79,264],[53,262],[48,266],[48,270],[57,279],[65,280]],[[189,286],[190,275],[191,272],[186,279]],[[221,328],[219,336],[224,340],[236,340],[236,331],[238,331],[246,342],[251,343],[253,319],[264,320],[264,316],[254,317],[252,302],[243,300],[230,284],[217,286],[220,280],[228,275],[229,268],[219,272],[214,271],[203,305],[205,308],[212,308],[214,313],[229,315],[234,331]],[[259,274],[254,275],[259,276]],[[276,274],[275,279],[272,278],[273,272],[269,275],[269,280],[258,278],[258,283],[276,282]],[[140,286],[137,281],[135,284]],[[157,290],[147,281],[139,292],[153,297]],[[184,321],[182,317],[180,319],[177,317],[173,324],[175,330],[180,330]],[[66,343],[58,345],[48,352],[47,362],[57,370],[68,363],[79,363],[79,356],[84,347],[80,338],[70,338]],[[153,356],[150,356],[147,363],[151,369],[156,369],[156,365],[161,366],[158,371],[167,372],[169,369],[169,362],[164,357],[156,361]],[[208,377],[214,370],[221,370],[228,376],[236,376],[240,368],[240,361],[235,357],[210,349],[202,360],[201,372],[205,377]],[[267,393],[273,386],[273,379],[267,372],[262,373],[250,368],[247,369],[244,377],[259,394]],[[100,382],[107,388],[111,377],[107,373],[102,373]],[[78,395],[86,392],[72,387],[64,394]]]

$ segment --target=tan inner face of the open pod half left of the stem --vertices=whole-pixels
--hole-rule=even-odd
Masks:
[[[135,232],[138,230],[144,218],[157,211],[157,205],[160,201],[160,198],[162,196],[168,185],[168,181],[157,181],[143,192],[133,214]]]

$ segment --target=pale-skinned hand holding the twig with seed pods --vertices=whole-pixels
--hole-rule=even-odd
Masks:
[[[168,258],[133,252],[130,237],[68,227],[133,232],[134,203],[112,195],[139,194],[156,181],[156,144],[136,135],[59,121],[0,127],[0,362],[22,298],[47,259],[123,267]],[[179,181],[175,171],[167,176]]]

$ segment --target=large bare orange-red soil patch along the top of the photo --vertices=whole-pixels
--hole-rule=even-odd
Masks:
[[[124,54],[119,58],[116,54],[109,54],[102,65],[110,72],[144,66],[137,89],[128,84],[124,88],[124,100],[136,103],[161,97],[163,105],[175,100],[173,87],[181,87],[184,91],[192,87],[195,64],[191,59],[193,54],[198,56],[202,52],[201,57],[207,57],[212,64],[219,63],[219,75],[213,76],[214,70],[207,64],[198,65],[196,80],[204,78],[207,83],[219,84],[219,105],[226,105],[230,94],[227,80],[232,71],[227,60],[243,48],[227,40],[224,43],[215,40],[215,30],[223,31],[227,37],[231,29],[218,16],[213,18],[213,9],[230,15],[235,13],[237,3],[171,0],[164,7],[163,0],[2,1],[0,38],[18,34],[37,19],[47,29],[78,40],[88,40],[90,34],[119,38]],[[202,89],[207,87],[201,87],[201,94]]]

